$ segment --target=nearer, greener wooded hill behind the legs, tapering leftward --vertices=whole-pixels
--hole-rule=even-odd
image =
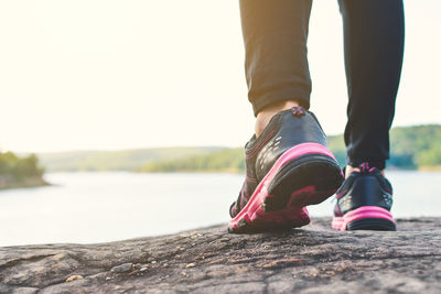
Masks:
[[[329,146],[341,166],[346,162],[343,135],[330,135]],[[427,124],[394,128],[390,132],[390,160],[394,168],[433,170],[441,166],[441,126]],[[143,172],[241,172],[244,150],[229,149],[181,160],[147,164]]]

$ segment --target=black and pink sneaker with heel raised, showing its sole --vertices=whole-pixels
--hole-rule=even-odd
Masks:
[[[332,196],[343,175],[315,116],[302,107],[272,117],[245,145],[246,178],[229,209],[229,232],[308,225],[305,206]]]

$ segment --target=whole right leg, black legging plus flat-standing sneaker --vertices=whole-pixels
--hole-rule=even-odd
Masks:
[[[396,230],[390,214],[392,187],[380,171],[389,157],[389,128],[401,73],[402,1],[338,2],[349,96],[344,135],[348,161],[347,179],[336,193],[332,227]]]

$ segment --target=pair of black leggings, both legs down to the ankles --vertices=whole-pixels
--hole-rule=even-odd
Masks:
[[[255,115],[268,105],[297,100],[310,107],[306,59],[312,0],[240,0],[248,98]],[[347,164],[389,159],[405,39],[402,0],[338,0],[344,25],[348,89]],[[326,50],[326,48],[323,48]]]

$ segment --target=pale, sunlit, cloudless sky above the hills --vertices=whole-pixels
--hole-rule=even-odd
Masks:
[[[394,126],[441,123],[441,1],[406,0]],[[337,1],[313,3],[311,110],[346,122]],[[0,1],[0,150],[241,146],[254,132],[238,1]]]

